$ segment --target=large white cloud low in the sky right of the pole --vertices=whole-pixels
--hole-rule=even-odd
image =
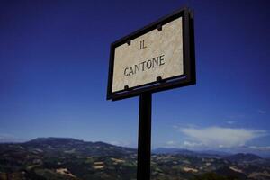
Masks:
[[[247,141],[266,136],[266,130],[232,129],[222,127],[182,128],[184,135],[193,141],[209,148],[234,148],[243,146]],[[186,145],[188,145],[186,143]],[[192,145],[192,144],[190,144]]]

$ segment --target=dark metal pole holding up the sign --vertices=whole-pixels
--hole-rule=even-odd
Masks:
[[[139,95],[137,180],[150,180],[152,94]]]

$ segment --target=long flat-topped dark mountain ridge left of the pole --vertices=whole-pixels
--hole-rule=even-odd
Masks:
[[[24,143],[0,144],[0,152],[3,149],[7,150],[6,148],[9,147],[13,149],[16,147],[23,148],[28,152],[43,152],[49,155],[64,152],[84,156],[110,156],[137,152],[133,148],[118,147],[104,142],[86,142],[84,140],[69,138],[38,138]]]

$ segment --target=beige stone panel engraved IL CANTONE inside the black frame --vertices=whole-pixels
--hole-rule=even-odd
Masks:
[[[115,49],[112,92],[184,74],[182,17]]]

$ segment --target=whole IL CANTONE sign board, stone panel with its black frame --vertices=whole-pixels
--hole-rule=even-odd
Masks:
[[[195,84],[193,13],[176,11],[111,45],[107,99]]]

